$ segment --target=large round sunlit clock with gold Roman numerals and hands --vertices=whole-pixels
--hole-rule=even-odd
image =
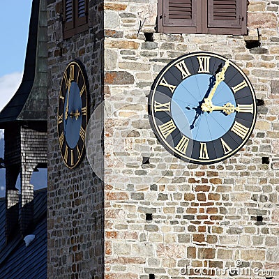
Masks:
[[[239,151],[256,114],[248,77],[232,61],[210,52],[169,63],[149,94],[149,120],[158,140],[191,163],[217,163]]]

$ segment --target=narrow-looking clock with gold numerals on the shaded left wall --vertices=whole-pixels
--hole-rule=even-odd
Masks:
[[[87,103],[86,73],[79,61],[72,61],[61,80],[57,114],[59,148],[64,163],[70,169],[76,167],[84,155]]]

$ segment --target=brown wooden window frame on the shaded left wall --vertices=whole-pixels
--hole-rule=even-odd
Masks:
[[[78,0],[72,1],[72,20],[66,22],[66,0],[63,0],[63,38],[73,37],[77,33],[88,30],[88,0],[85,3],[84,17],[78,17]]]

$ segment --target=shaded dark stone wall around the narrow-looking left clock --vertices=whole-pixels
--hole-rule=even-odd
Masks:
[[[89,1],[89,30],[63,40],[61,0],[48,11],[47,278],[103,278],[103,183],[84,156],[73,170],[63,164],[57,133],[63,71],[79,59],[89,79],[90,111],[101,103],[103,31],[100,2]]]

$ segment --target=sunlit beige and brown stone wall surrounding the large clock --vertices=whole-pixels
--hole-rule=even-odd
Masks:
[[[250,0],[248,36],[174,35],[155,32],[156,1],[105,1],[106,279],[222,277],[197,276],[193,268],[279,269],[278,8],[279,1]],[[257,28],[261,47],[248,49]],[[200,166],[160,146],[146,97],[169,61],[202,50],[232,59],[264,105],[241,151]],[[276,276],[259,273],[266,277]]]

